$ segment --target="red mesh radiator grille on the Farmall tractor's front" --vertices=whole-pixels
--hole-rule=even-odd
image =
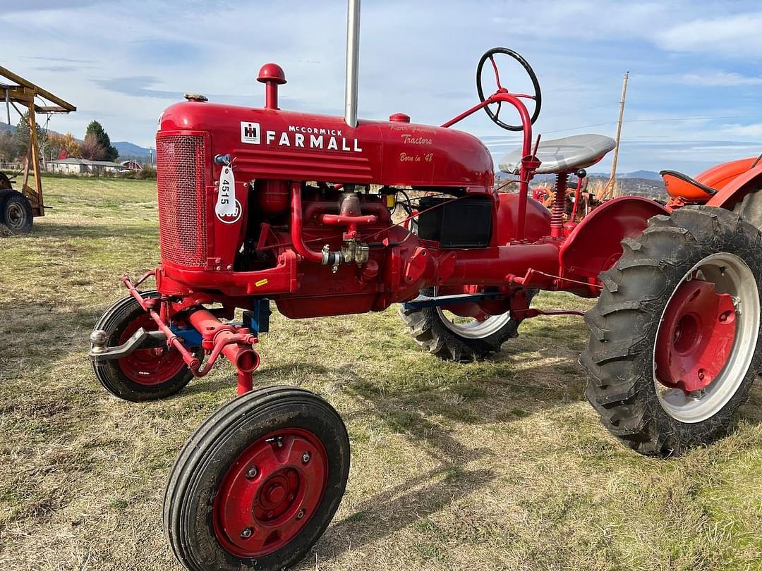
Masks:
[[[162,261],[180,266],[207,263],[207,201],[203,136],[156,138],[158,236]]]

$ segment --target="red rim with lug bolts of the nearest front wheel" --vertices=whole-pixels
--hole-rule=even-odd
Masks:
[[[238,557],[273,553],[302,531],[325,493],[328,458],[317,436],[284,429],[231,464],[214,499],[214,532]]]

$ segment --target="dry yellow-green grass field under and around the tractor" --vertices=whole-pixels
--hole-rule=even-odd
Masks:
[[[235,375],[223,363],[149,404],[107,394],[88,335],[120,275],[158,261],[155,183],[44,184],[34,233],[0,238],[0,569],[178,570],[165,478]],[[653,460],[584,401],[578,318],[528,321],[495,359],[456,365],[396,311],[276,314],[258,346],[260,386],[321,394],[351,437],[347,494],[303,569],[762,569],[762,383],[727,438]]]

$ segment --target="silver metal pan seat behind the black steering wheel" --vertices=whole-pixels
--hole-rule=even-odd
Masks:
[[[590,167],[614,147],[616,141],[603,135],[575,135],[549,141],[540,139],[537,158],[543,163],[535,174],[571,172]],[[500,170],[507,174],[519,174],[521,158],[520,148],[503,155],[499,163]]]

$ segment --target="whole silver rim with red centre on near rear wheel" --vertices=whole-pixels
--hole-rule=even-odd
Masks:
[[[664,411],[683,423],[719,413],[747,375],[759,325],[757,280],[744,260],[722,252],[696,263],[656,334],[653,378]]]

